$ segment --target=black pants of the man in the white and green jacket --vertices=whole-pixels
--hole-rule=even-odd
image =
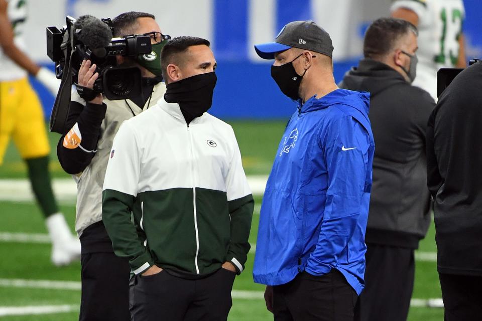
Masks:
[[[160,273],[131,279],[132,321],[225,321],[236,274],[220,268],[197,280]]]

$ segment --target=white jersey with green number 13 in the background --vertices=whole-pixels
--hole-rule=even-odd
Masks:
[[[458,61],[458,37],[465,10],[462,0],[396,0],[391,11],[405,8],[418,16],[417,78],[414,85],[437,101],[437,71]]]

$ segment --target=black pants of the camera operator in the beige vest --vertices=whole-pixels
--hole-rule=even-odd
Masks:
[[[129,321],[129,261],[114,253],[81,256],[79,321]]]

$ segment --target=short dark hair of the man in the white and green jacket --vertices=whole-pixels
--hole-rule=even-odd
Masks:
[[[203,38],[197,37],[190,37],[190,36],[181,36],[171,39],[161,51],[161,68],[163,73],[163,78],[167,80],[166,72],[167,66],[169,64],[180,64],[179,55],[180,53],[184,53],[187,49],[191,46],[199,46],[205,45],[210,46],[211,44],[209,41]]]

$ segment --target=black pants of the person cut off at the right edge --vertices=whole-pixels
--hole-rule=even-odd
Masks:
[[[445,321],[482,319],[482,276],[439,273]]]

